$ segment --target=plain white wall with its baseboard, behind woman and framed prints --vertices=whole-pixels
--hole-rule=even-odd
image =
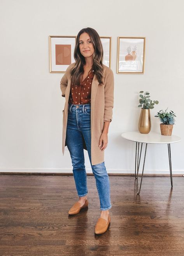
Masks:
[[[49,73],[49,35],[75,36],[84,27],[112,37],[107,171],[133,172],[135,145],[121,133],[137,130],[140,90],[159,101],[151,110],[152,131],[159,132],[156,112],[169,107],[177,114],[173,134],[183,137],[183,11],[182,0],[1,0],[0,171],[72,172],[69,151],[63,156],[61,150],[63,74]],[[146,37],[144,74],[116,73],[118,36]],[[173,173],[184,173],[184,140],[171,149]],[[85,157],[91,171],[87,151]],[[169,173],[166,145],[149,145],[145,172]]]

